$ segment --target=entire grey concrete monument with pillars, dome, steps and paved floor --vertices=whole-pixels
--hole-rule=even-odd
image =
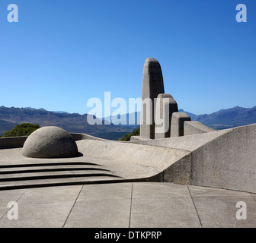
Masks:
[[[158,97],[144,115],[155,124],[142,124],[129,142],[56,127],[0,138],[0,226],[255,227],[256,124],[214,131],[190,121],[163,93],[158,62],[149,58],[144,69],[142,95]],[[23,211],[9,220],[6,204],[17,198]],[[235,218],[238,202],[248,205],[248,220]]]

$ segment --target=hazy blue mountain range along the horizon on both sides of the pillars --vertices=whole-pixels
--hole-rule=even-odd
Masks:
[[[184,112],[184,110],[179,109],[179,112]],[[186,113],[190,115],[191,120],[201,122],[216,130],[256,123],[256,106],[252,108],[235,106],[231,109],[221,109],[218,112],[203,115],[195,115],[191,112]],[[139,115],[140,112],[134,112],[132,114],[119,115],[118,117],[103,118],[103,120],[109,122],[119,118],[123,125],[114,125],[113,123],[110,125],[89,125],[87,114],[70,114],[61,111],[50,112],[45,109],[30,107],[8,108],[0,106],[0,135],[4,134],[7,130],[11,130],[17,124],[28,122],[39,124],[40,126],[59,126],[69,132],[85,133],[96,137],[117,140],[123,137],[123,134],[134,131],[138,127],[136,121]],[[124,125],[126,121],[129,121],[129,118],[130,124],[133,125]]]

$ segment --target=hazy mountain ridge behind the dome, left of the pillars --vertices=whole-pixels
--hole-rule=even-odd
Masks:
[[[17,124],[32,123],[43,126],[58,126],[69,132],[91,134],[96,137],[118,140],[124,134],[137,128],[122,125],[89,125],[87,114],[49,112],[45,109],[0,107],[0,134],[11,130]],[[95,117],[94,117],[95,118]]]

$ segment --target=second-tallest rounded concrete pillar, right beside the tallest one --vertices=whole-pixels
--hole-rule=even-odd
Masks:
[[[155,139],[170,137],[171,116],[178,112],[178,104],[168,93],[159,93],[155,103]]]

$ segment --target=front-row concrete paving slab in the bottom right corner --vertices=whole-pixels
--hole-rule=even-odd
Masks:
[[[229,193],[228,193],[229,194]],[[252,197],[242,196],[204,196],[193,197],[203,227],[206,228],[242,228],[256,227],[256,201]],[[247,207],[247,219],[238,220],[235,207],[243,201]]]

